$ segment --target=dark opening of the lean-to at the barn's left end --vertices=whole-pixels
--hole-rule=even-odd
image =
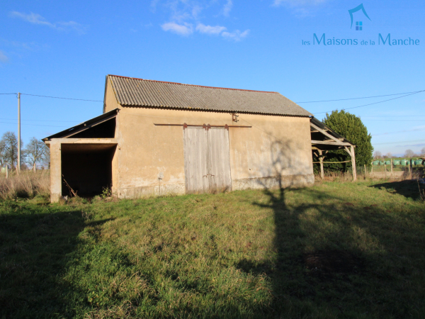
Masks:
[[[62,196],[72,196],[67,184],[83,197],[111,189],[115,149],[111,144],[63,144]]]

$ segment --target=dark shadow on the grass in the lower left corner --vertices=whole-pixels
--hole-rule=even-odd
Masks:
[[[62,298],[66,288],[58,278],[66,271],[81,230],[107,220],[86,223],[81,211],[42,213],[42,207],[13,202],[1,208],[8,211],[0,214],[0,315],[72,316]]]

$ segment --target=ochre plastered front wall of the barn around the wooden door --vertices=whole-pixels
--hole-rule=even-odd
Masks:
[[[229,113],[120,107],[117,121],[113,191],[120,198],[185,192],[183,127],[154,123],[252,125],[229,128],[233,190],[314,182],[309,118],[240,114],[234,123]]]

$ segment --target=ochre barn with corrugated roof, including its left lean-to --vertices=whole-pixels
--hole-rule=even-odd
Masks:
[[[311,118],[277,92],[108,75],[103,114],[44,139],[51,200],[308,186]]]

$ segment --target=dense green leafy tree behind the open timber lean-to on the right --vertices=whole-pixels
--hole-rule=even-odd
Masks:
[[[368,129],[360,118],[344,110],[332,111],[330,115],[328,113],[326,114],[323,123],[356,145],[354,150],[356,152],[357,166],[363,167],[364,164],[370,166],[373,160],[373,146],[370,142],[372,135],[368,133]],[[331,151],[328,154],[327,161],[329,162],[344,162],[350,159],[350,156],[345,150]],[[382,154],[380,155],[382,156]],[[327,168],[345,171],[351,168],[351,162],[344,164],[328,164]]]

